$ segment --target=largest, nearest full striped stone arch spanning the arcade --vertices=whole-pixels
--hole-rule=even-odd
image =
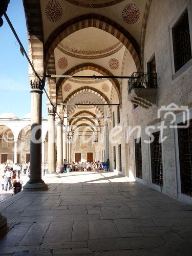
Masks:
[[[137,71],[140,71],[140,48],[135,38],[113,20],[105,16],[93,13],[75,17],[68,22],[63,23],[55,31],[53,31],[45,44],[45,69],[47,69],[49,58],[52,55],[54,49],[64,38],[80,29],[90,27],[98,28],[108,32],[115,36],[120,42],[122,42],[122,44],[131,53],[135,61]]]

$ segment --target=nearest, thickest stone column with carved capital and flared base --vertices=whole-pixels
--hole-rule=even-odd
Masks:
[[[24,189],[44,190],[48,186],[41,179],[41,119],[42,84],[38,79],[31,80],[31,143],[30,143],[30,179]]]

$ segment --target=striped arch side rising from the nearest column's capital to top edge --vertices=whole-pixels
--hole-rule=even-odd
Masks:
[[[44,32],[39,0],[23,0],[27,30],[29,58],[37,72],[44,74]]]

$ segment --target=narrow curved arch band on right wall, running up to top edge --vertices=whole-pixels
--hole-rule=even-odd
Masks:
[[[143,14],[143,21],[142,21],[142,27],[141,27],[141,39],[140,39],[140,45],[141,45],[141,72],[143,72],[143,65],[144,65],[144,44],[145,44],[145,33],[146,33],[146,25],[148,20],[148,14],[150,13],[150,8],[152,5],[152,0],[147,0],[145,5],[145,10]]]

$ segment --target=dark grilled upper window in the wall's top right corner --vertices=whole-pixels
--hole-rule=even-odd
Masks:
[[[190,33],[187,9],[172,28],[175,72],[191,59]]]

